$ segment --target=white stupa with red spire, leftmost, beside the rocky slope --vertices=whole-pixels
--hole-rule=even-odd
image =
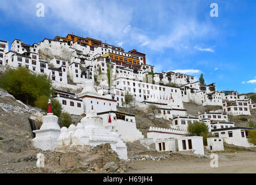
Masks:
[[[42,117],[43,124],[40,129],[33,131],[35,138],[32,144],[35,148],[41,150],[54,150],[57,147],[57,139],[60,136],[60,126],[58,117],[53,115],[52,106],[49,99],[48,112]]]

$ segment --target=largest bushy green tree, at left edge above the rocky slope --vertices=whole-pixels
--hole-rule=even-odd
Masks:
[[[52,94],[52,82],[47,76],[31,73],[28,69],[21,67],[9,69],[3,73],[0,76],[0,87],[31,106],[34,106],[39,96]]]

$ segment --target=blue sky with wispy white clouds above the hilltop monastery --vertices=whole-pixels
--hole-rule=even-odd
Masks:
[[[45,17],[36,16],[37,3]],[[218,91],[256,92],[255,10],[255,0],[2,0],[0,40],[32,44],[73,32],[137,49],[157,72],[203,73]]]

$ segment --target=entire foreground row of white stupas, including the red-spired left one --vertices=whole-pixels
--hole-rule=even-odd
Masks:
[[[49,108],[46,116],[42,118],[43,124],[39,130],[33,131],[36,136],[32,139],[33,146],[41,150],[54,150],[59,146],[91,145],[97,146],[109,143],[119,158],[127,159],[127,147],[115,131],[115,126],[109,123],[103,127],[103,118],[97,116],[93,110],[86,112],[81,123],[69,128],[58,125],[58,117],[52,113],[49,100]]]

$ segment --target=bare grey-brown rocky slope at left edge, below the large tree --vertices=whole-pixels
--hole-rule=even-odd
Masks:
[[[29,119],[36,123],[40,116],[38,110],[0,89],[0,153],[26,150],[33,137]]]

